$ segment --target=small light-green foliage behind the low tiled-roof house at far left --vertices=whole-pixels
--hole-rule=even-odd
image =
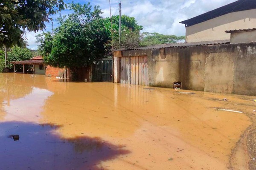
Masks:
[[[15,46],[11,48],[9,52],[7,52],[7,67],[9,69],[13,68],[13,65],[10,63],[12,61],[29,60],[32,57],[32,53],[28,48],[20,48]]]

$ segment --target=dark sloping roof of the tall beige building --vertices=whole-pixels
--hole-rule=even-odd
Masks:
[[[189,20],[181,21],[180,23],[185,24],[185,26],[193,26],[198,23],[202,23],[207,20],[225,15],[231,12],[245,11],[250,9],[256,9],[256,0],[238,0],[236,2],[227,4],[220,8],[214,9],[207,13],[198,15],[196,17],[190,18]]]

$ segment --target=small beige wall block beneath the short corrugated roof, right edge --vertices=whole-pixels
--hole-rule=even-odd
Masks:
[[[231,33],[230,43],[256,42],[256,31]]]

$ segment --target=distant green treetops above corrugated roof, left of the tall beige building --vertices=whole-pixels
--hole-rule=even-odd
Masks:
[[[143,32],[140,46],[177,43],[183,40],[185,40],[185,36],[177,37],[176,35],[163,35],[155,32]]]

